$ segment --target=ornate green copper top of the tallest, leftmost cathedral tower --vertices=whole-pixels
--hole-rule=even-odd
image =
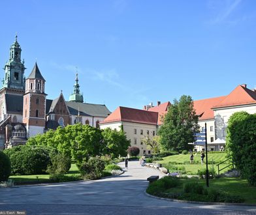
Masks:
[[[18,36],[15,36],[14,43],[10,46],[9,60],[5,64],[5,77],[2,81],[3,87],[12,89],[25,89],[24,81],[24,60],[21,61],[22,49],[18,43]]]

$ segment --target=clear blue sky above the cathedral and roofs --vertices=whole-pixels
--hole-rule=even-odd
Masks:
[[[88,103],[142,108],[256,87],[256,1],[0,1],[0,64],[18,33],[48,98],[68,100],[76,66]],[[0,78],[3,78],[1,72]]]

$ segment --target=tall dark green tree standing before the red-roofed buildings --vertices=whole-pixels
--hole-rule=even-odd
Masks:
[[[181,96],[174,100],[159,128],[160,143],[165,150],[190,150],[195,141],[195,133],[199,132],[199,117],[195,113],[191,96]]]

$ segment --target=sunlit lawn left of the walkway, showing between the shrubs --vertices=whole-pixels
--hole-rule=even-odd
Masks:
[[[80,175],[76,164],[71,164],[71,169],[69,169],[69,173],[66,175],[68,177],[77,177]],[[41,184],[52,182],[49,176],[50,175],[12,175],[9,179],[14,180],[14,184]]]

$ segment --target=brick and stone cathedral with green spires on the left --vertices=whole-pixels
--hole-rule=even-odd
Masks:
[[[37,63],[28,78],[24,78],[26,68],[21,53],[16,36],[0,89],[0,149],[25,144],[27,137],[55,130],[57,126],[81,122],[99,127],[99,122],[110,115],[105,105],[84,103],[77,73],[69,101],[65,101],[62,91],[58,98],[47,99],[46,80]]]

